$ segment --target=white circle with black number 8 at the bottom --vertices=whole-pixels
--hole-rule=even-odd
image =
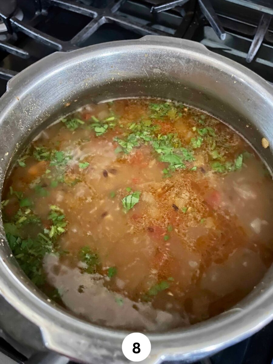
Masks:
[[[123,340],[122,352],[131,361],[142,361],[146,359],[150,351],[150,340],[140,332],[133,332]]]

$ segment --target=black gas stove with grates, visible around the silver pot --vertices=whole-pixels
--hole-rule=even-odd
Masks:
[[[273,0],[0,0],[0,96],[9,79],[55,51],[148,34],[198,41],[273,82]],[[0,298],[0,317],[7,305]],[[11,332],[0,326],[1,364],[74,364]],[[198,363],[273,364],[273,322]]]

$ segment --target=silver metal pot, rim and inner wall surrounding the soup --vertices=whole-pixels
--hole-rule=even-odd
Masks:
[[[26,144],[64,113],[88,102],[153,96],[201,108],[225,120],[273,169],[272,86],[245,67],[208,51],[199,43],[146,36],[56,52],[22,71],[0,99],[0,189],[9,166]],[[88,324],[35,289],[17,265],[0,225],[0,292],[39,327],[44,345],[92,364],[128,362],[121,344],[128,332]],[[6,316],[6,317],[11,317]],[[273,269],[236,307],[192,325],[149,333],[145,363],[195,361],[253,334],[273,318]],[[2,317],[5,327],[12,325]],[[17,320],[22,339],[28,335]]]

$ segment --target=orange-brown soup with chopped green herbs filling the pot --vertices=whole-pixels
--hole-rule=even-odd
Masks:
[[[44,130],[5,184],[13,255],[92,323],[163,331],[223,312],[273,260],[272,179],[210,115],[87,105]]]

